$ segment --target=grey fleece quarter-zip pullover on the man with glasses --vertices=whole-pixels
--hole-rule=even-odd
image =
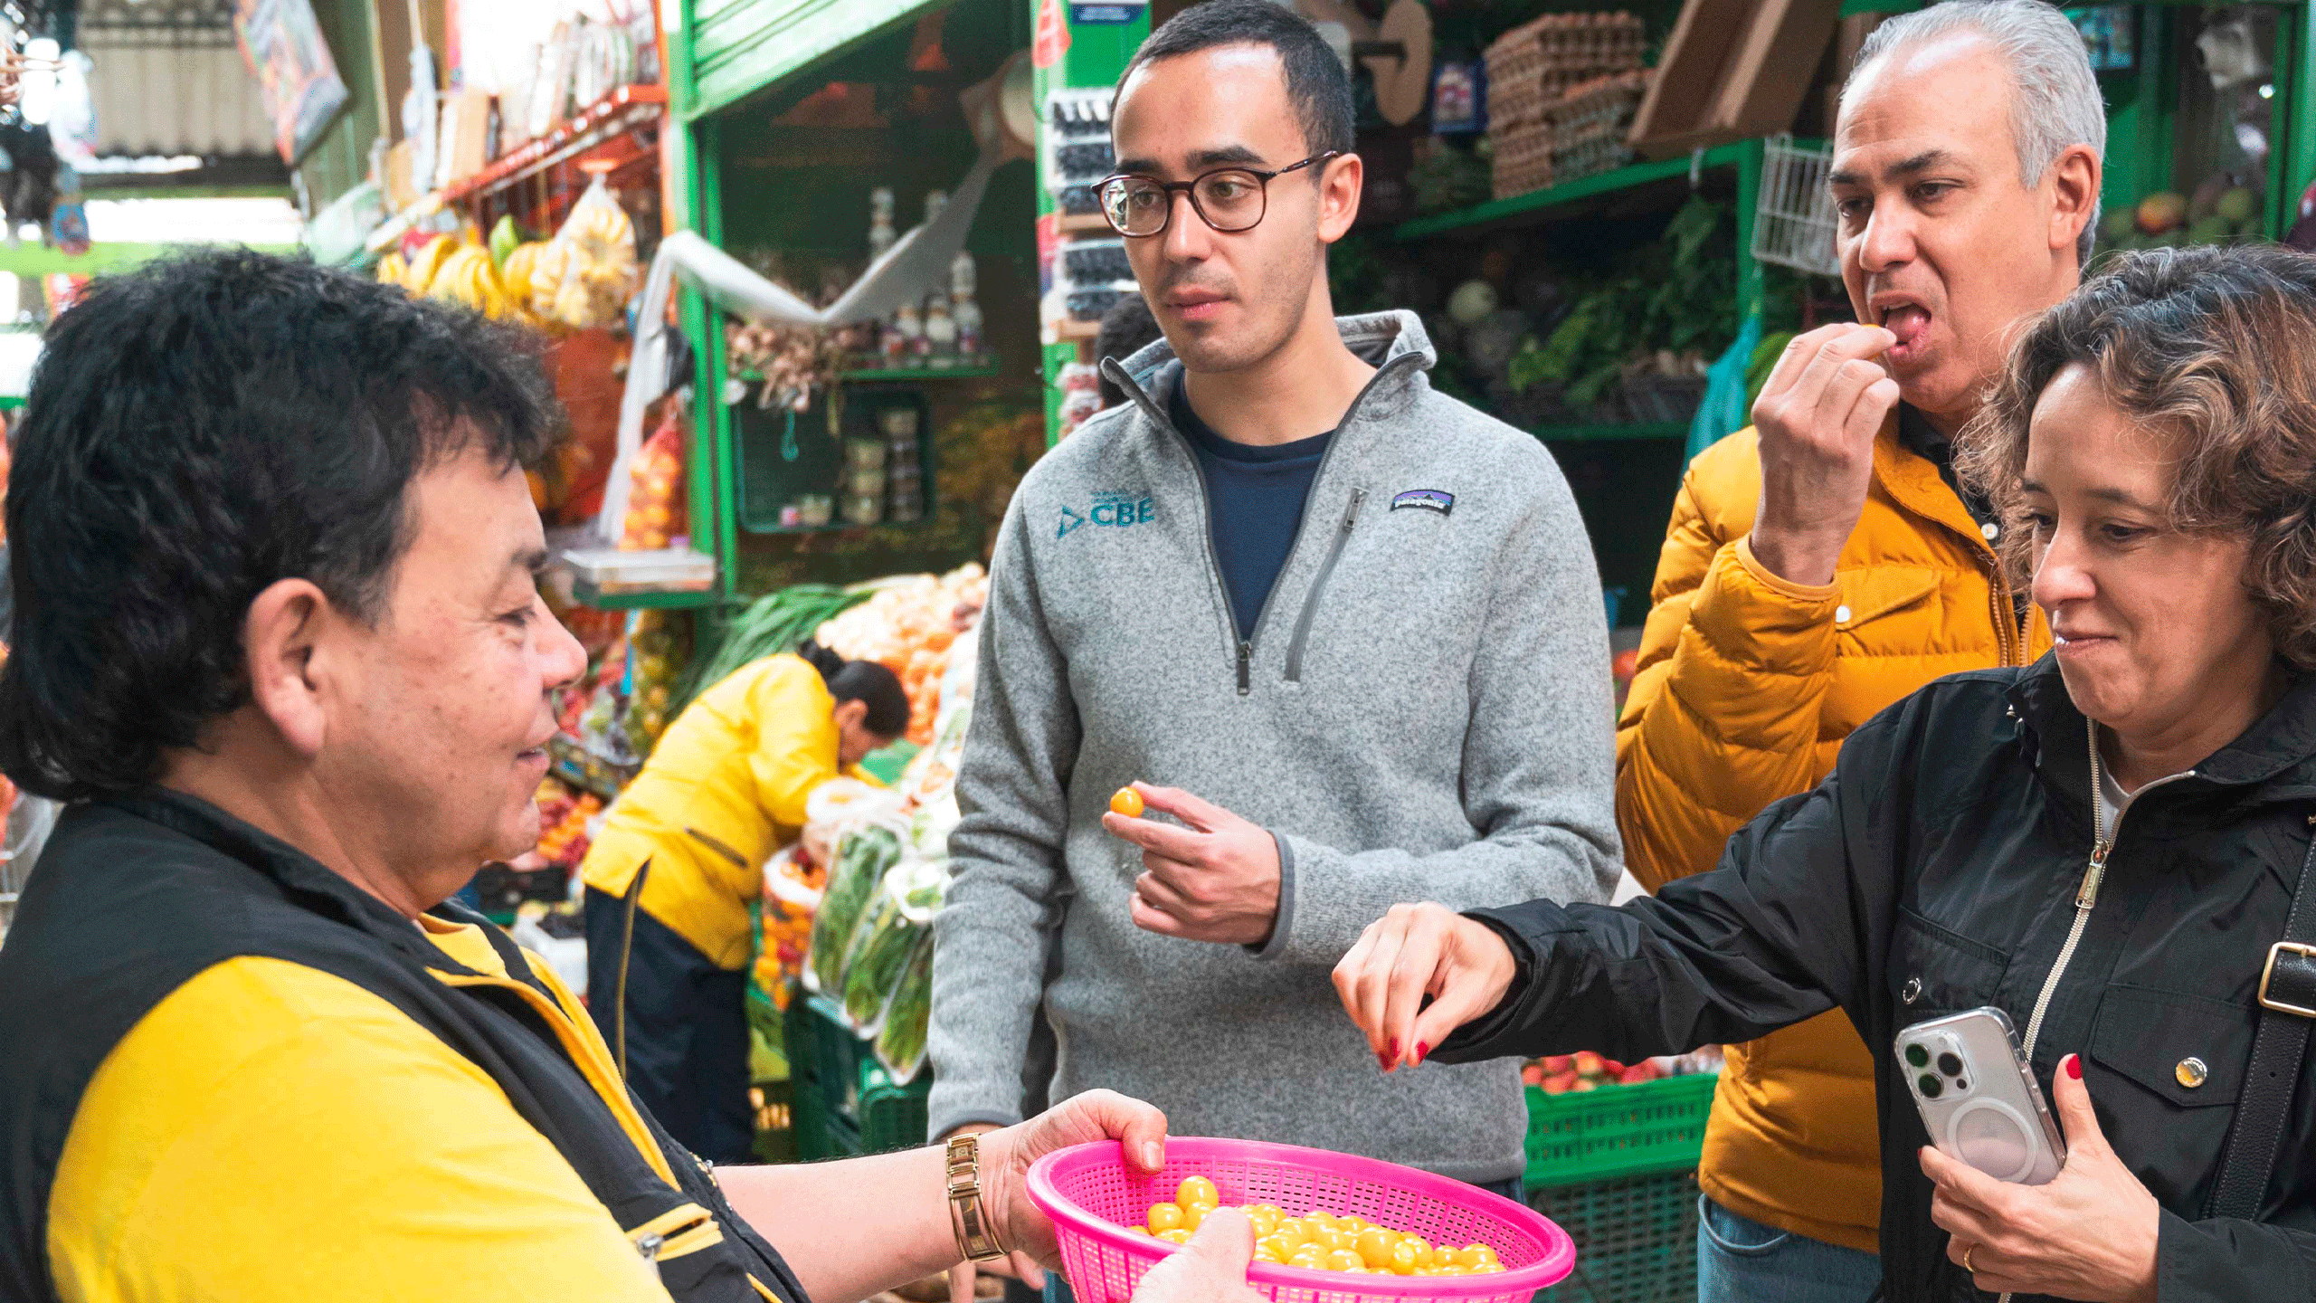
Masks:
[[[1165,343],[1109,364],[1135,401],[1047,452],[1012,498],[936,923],[936,1136],[1021,1118],[1042,999],[1054,1099],[1112,1087],[1181,1136],[1461,1180],[1522,1171],[1517,1067],[1380,1073],[1329,969],[1397,902],[1607,900],[1600,580],[1552,454],[1431,392],[1413,313],[1336,325],[1380,369],[1246,642],[1197,461],[1165,417],[1181,373]],[[1271,830],[1283,881],[1265,946],[1133,925],[1139,853],[1100,825],[1133,779]]]

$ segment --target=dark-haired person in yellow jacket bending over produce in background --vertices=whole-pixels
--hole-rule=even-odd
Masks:
[[[908,733],[892,670],[806,642],[699,693],[586,853],[588,1013],[709,1162],[748,1157],[748,904],[813,791]],[[646,867],[648,865],[648,867]]]

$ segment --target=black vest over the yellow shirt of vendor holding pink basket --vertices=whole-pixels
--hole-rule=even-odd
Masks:
[[[433,913],[482,923],[459,904]],[[630,1238],[676,1215],[713,1220],[720,1240],[662,1254],[674,1298],[760,1303],[755,1280],[808,1303],[709,1166],[653,1124],[676,1180],[660,1178],[521,988],[547,1004],[554,995],[503,932],[489,934],[507,981],[461,967],[343,876],[190,795],[148,791],[67,811],[0,946],[0,1298],[56,1298],[49,1192],[81,1092],[111,1048],[195,974],[269,955],[387,999],[466,1055]]]

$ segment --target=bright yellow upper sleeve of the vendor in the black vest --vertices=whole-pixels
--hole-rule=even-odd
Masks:
[[[67,1303],[665,1303],[475,1064],[285,960],[215,964],[90,1080],[58,1164]]]

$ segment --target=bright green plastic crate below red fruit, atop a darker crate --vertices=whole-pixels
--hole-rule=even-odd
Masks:
[[[1529,1087],[1529,1189],[1698,1166],[1716,1073],[1607,1085],[1582,1094]]]

